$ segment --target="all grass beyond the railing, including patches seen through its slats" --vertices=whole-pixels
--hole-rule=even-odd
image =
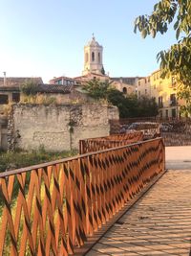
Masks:
[[[62,151],[62,152],[47,152],[44,151],[43,149],[40,149],[39,151],[32,151],[32,152],[27,152],[27,151],[14,151],[14,152],[5,152],[5,151],[0,151],[0,171],[9,171],[12,169],[16,168],[21,168],[21,167],[26,167],[26,166],[31,166],[34,164],[39,164],[43,162],[48,162],[52,160],[57,160],[61,158],[66,158],[70,157],[76,154],[76,151]],[[25,198],[26,201],[29,203],[29,184],[31,181],[31,174],[29,173],[26,177],[26,183],[25,183],[25,188],[24,188],[24,193],[25,193]],[[51,178],[51,186],[50,186],[50,194],[53,194],[53,175]],[[19,194],[19,185],[18,185],[18,180],[17,177],[15,176],[14,179],[14,184],[13,184],[13,192],[11,195],[11,217],[12,220],[15,221],[16,215],[17,215],[17,210],[18,210],[18,194]],[[41,205],[43,206],[44,203],[44,198],[45,198],[45,184],[44,181],[41,181],[40,184],[40,201]],[[3,210],[5,208],[5,201],[2,198],[3,195],[0,190],[0,229],[2,225],[2,214]],[[34,214],[36,210],[36,204],[35,204],[35,190],[33,191],[33,197],[32,199],[32,209],[30,212],[30,221],[33,221],[34,219]],[[63,211],[65,211],[65,203],[66,203],[66,198],[63,196]],[[58,210],[54,211],[54,216],[53,220],[56,222],[58,218]],[[20,250],[20,244],[22,240],[22,233],[23,233],[23,225],[24,225],[24,211],[22,210],[21,216],[20,216],[20,221],[19,221],[19,226],[18,226],[18,237],[17,237],[17,249],[18,251]],[[45,227],[48,227],[48,218],[46,218],[46,223]],[[31,227],[32,228],[32,227]],[[38,232],[39,232],[39,227],[38,227]],[[47,236],[47,230],[43,231],[45,239]],[[37,244],[39,243],[39,239],[37,238]],[[36,251],[37,251],[37,245],[36,245]],[[10,255],[10,250],[11,250],[11,234],[9,232],[9,229],[6,229],[6,234],[5,234],[5,241],[4,241],[4,249],[3,249],[3,255],[7,256]],[[29,242],[27,243],[27,247],[25,250],[25,255],[31,255],[31,251],[29,248]]]

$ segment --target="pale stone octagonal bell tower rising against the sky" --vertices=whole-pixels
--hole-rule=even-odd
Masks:
[[[95,35],[93,34],[92,40],[84,46],[84,70],[83,75],[89,73],[102,74],[102,52],[103,47],[96,42]]]

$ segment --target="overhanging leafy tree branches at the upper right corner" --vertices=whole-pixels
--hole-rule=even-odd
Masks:
[[[191,1],[160,0],[151,15],[136,18],[134,31],[138,30],[143,38],[155,37],[166,33],[171,23],[178,42],[157,56],[161,78],[176,76],[180,89],[187,90],[191,88]]]

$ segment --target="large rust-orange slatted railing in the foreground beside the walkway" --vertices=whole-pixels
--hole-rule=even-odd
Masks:
[[[0,174],[0,255],[68,255],[164,170],[161,138]]]

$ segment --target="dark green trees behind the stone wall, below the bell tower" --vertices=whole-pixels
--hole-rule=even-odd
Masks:
[[[106,100],[109,104],[117,105],[120,118],[158,115],[158,105],[154,99],[142,97],[138,100],[136,94],[124,95],[113,88],[109,81],[88,81],[84,90],[96,100]]]

